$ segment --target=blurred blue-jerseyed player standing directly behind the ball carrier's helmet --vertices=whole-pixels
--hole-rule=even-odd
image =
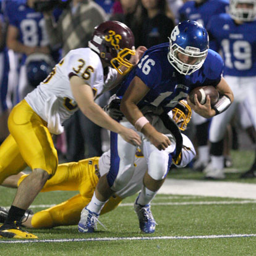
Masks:
[[[180,20],[195,20],[204,27],[213,15],[228,11],[229,0],[194,0],[187,1],[179,9]],[[197,140],[197,160],[193,163],[194,171],[203,171],[207,166],[210,156],[208,147],[208,129],[210,119],[199,116],[192,111],[192,123],[195,128]]]

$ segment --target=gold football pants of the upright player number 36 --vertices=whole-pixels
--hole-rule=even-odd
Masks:
[[[22,100],[12,109],[8,127],[11,134],[0,146],[0,184],[27,165],[53,175],[58,166],[57,151],[47,123],[27,101]]]

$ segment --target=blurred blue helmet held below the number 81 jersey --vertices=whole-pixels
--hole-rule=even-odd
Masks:
[[[28,83],[33,87],[37,87],[53,69],[54,61],[47,54],[33,53],[28,55],[25,66]]]

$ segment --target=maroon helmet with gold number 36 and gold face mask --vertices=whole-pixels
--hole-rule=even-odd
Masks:
[[[124,23],[111,20],[101,23],[95,28],[88,46],[119,74],[127,74],[133,67],[127,58],[135,55],[134,34]],[[122,66],[126,67],[125,71],[121,70]]]

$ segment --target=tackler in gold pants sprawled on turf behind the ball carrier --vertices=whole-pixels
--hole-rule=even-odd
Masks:
[[[191,117],[191,109],[182,102],[174,108],[173,118],[179,124],[182,130],[186,129],[187,123]],[[182,134],[183,146],[182,157],[179,163],[173,163],[177,168],[186,166],[195,156],[195,149],[189,138]],[[142,187],[143,176],[147,171],[147,163],[140,151],[137,151],[135,157],[135,171],[127,186],[116,192],[114,197],[109,198],[101,215],[121,203],[122,199],[139,192]],[[54,190],[78,190],[79,194],[69,198],[65,202],[59,203],[54,207],[38,211],[35,215],[23,217],[22,225],[27,228],[53,228],[54,226],[67,226],[78,224],[80,213],[90,202],[96,184],[100,176],[106,174],[110,166],[110,150],[101,157],[93,157],[81,160],[77,163],[59,164],[54,176],[46,182],[41,192]],[[19,187],[19,184],[28,174],[19,173],[8,177],[3,186]],[[4,221],[7,215],[6,208],[0,208],[0,221]],[[26,220],[27,219],[27,220]]]

